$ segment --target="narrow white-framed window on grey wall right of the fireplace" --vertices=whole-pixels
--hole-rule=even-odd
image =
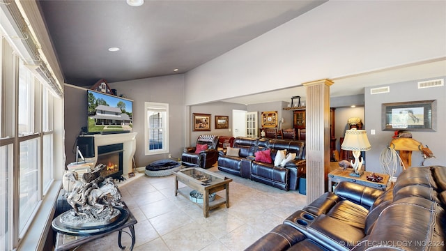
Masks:
[[[145,103],[146,155],[169,153],[169,104]]]

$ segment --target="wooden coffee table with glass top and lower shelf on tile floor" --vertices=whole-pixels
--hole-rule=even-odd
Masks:
[[[203,195],[203,203],[197,205],[203,208],[204,218],[209,215],[209,210],[217,208],[222,204],[226,204],[226,208],[229,208],[229,183],[231,178],[209,172],[206,169],[199,167],[190,167],[173,172],[175,176],[175,196],[180,193],[187,199],[190,199],[190,192],[197,190]],[[178,181],[187,185],[187,187],[178,189]],[[220,197],[215,195],[213,201],[209,201],[209,195],[221,190],[226,190],[226,196]]]

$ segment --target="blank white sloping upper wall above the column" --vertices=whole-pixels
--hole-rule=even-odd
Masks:
[[[185,104],[446,56],[445,9],[445,1],[328,1],[186,73]]]

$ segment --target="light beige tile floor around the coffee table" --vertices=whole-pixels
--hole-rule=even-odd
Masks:
[[[172,175],[142,175],[120,186],[123,201],[138,220],[134,250],[244,250],[306,204],[305,195],[298,191],[272,188],[220,172],[217,167],[209,170],[233,182],[229,185],[229,208],[215,208],[208,218],[192,201],[175,196]],[[116,232],[82,245],[77,251],[121,250],[117,239]],[[130,237],[123,234],[122,240],[125,250],[129,250]]]

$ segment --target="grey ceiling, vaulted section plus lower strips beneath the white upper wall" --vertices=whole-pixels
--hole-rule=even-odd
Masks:
[[[132,7],[125,0],[40,0],[38,5],[65,82],[91,86],[99,79],[112,83],[187,73],[325,2],[146,0]],[[110,47],[121,50],[109,52]],[[445,69],[443,57],[339,76],[332,79],[330,95],[362,94],[365,86],[438,77]],[[289,101],[291,96],[305,97],[305,88],[224,101],[254,104]]]

